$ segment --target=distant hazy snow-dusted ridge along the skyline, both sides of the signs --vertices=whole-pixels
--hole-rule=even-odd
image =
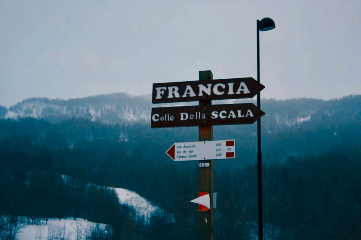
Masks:
[[[254,99],[221,100],[213,104],[245,103]],[[287,99],[262,100],[261,109],[266,113],[262,120],[271,128],[291,127],[323,117],[342,118],[358,116],[361,95],[351,95],[342,99]],[[41,118],[58,122],[69,118],[84,118],[105,124],[149,123],[151,108],[174,104],[152,104],[151,95],[130,96],[126,93],[103,94],[69,100],[30,98],[7,109],[0,105],[0,118]],[[177,103],[175,105],[197,105],[197,102]],[[348,113],[348,111],[351,111]]]

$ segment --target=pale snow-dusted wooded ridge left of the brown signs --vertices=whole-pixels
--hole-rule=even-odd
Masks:
[[[147,96],[125,93],[104,94],[69,100],[30,98],[6,109],[0,109],[3,118],[44,118],[59,121],[85,118],[103,123],[129,123],[149,119],[151,100]]]

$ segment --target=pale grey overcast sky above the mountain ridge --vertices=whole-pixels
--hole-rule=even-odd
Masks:
[[[35,2],[35,3],[30,3]],[[0,105],[150,94],[152,83],[257,77],[262,98],[361,94],[360,0],[0,1]]]

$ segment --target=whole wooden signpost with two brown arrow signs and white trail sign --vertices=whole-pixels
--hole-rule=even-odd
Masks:
[[[232,148],[229,151],[218,148],[221,149],[219,153],[221,153],[220,151],[225,152],[222,152],[221,156],[217,155],[217,148],[214,148],[211,144],[217,144],[217,142],[221,141],[212,141],[213,125],[252,124],[265,114],[253,103],[212,105],[211,100],[252,98],[264,88],[261,83],[251,77],[213,80],[211,71],[200,71],[199,81],[153,83],[152,103],[199,101],[198,106],[152,108],[151,127],[199,126],[200,145],[203,142],[204,145],[205,142],[210,145],[203,149],[203,151],[208,151],[210,155],[201,152],[202,147],[195,142],[188,142],[192,148],[187,150],[197,150],[198,154],[195,152],[195,154],[188,153],[185,149],[181,153],[177,153],[176,146],[181,149],[183,148],[181,145],[186,145],[185,142],[175,143],[167,151],[167,154],[173,160],[199,160],[198,192],[200,196],[194,200],[199,202],[200,199],[199,203],[206,202],[208,206],[205,209],[200,207],[201,210],[199,210],[200,240],[213,239],[212,159],[222,158],[222,155],[224,158],[235,158],[234,140],[223,140],[225,141],[224,144],[227,144],[227,141],[232,141]],[[231,143],[228,142],[228,144]],[[186,147],[184,146],[184,148]],[[186,153],[183,153],[183,151],[186,151]],[[215,152],[213,153],[213,151]],[[212,158],[212,154],[216,154],[216,157]],[[200,160],[202,158],[203,160]],[[208,204],[208,196],[210,204]],[[200,205],[202,206],[202,204]]]

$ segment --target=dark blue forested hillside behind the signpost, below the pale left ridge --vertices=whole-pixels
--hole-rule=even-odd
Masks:
[[[262,118],[266,236],[357,239],[360,96],[267,103]],[[189,200],[197,196],[197,163],[173,162],[165,151],[174,142],[197,141],[197,130],[82,118],[0,119],[0,191],[6,196],[0,214],[87,218],[110,223],[114,236],[125,239],[194,239],[197,206]],[[256,126],[214,126],[214,139],[236,140],[236,159],[214,161],[215,239],[250,239],[257,222]],[[64,182],[63,175],[73,181]],[[112,190],[97,185],[136,191],[166,214],[157,214],[150,225],[140,223]]]

